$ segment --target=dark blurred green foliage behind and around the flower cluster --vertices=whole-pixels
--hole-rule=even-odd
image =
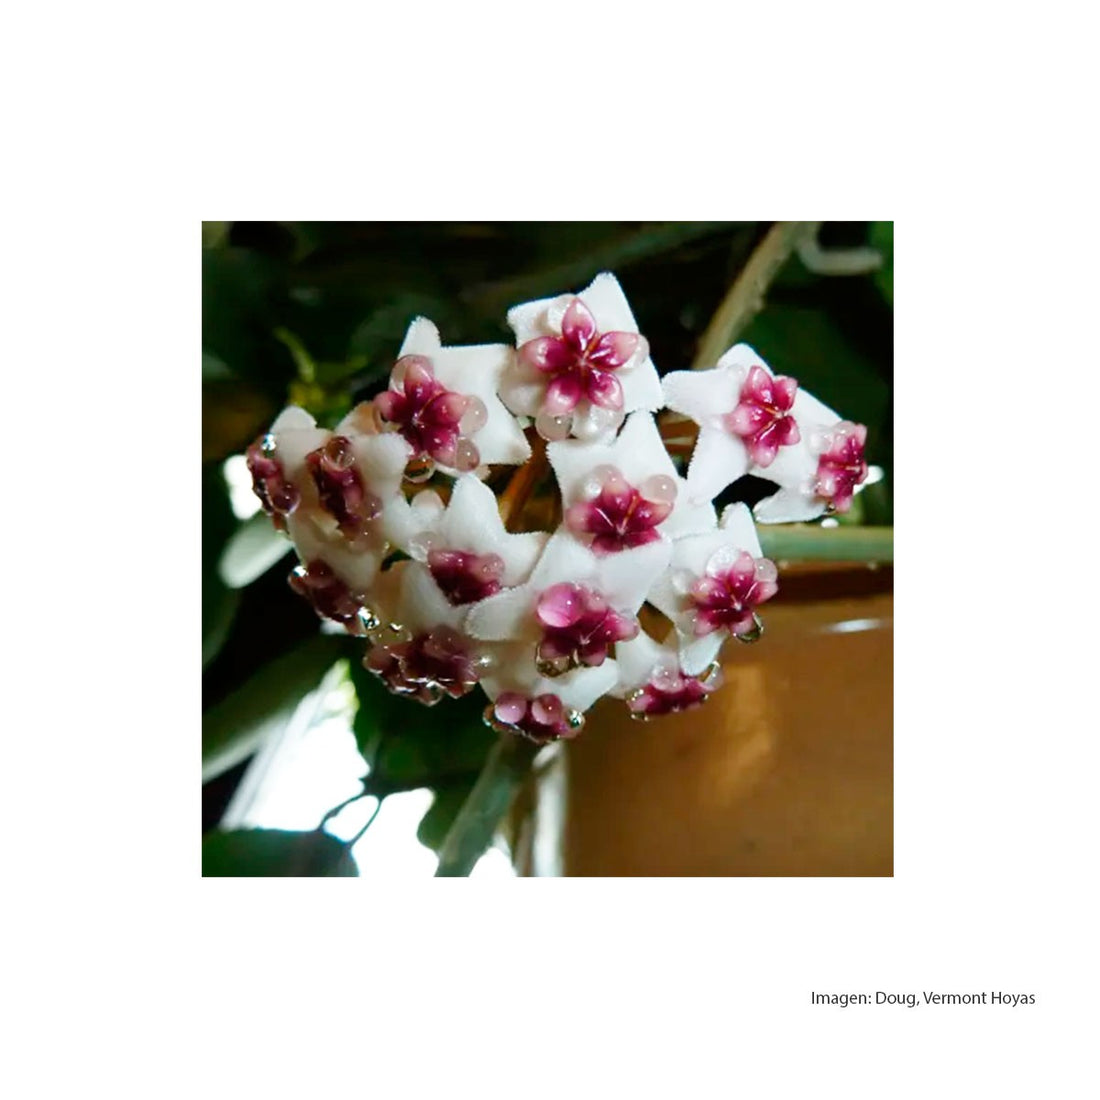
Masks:
[[[334,424],[388,376],[405,329],[430,317],[447,343],[508,341],[509,306],[623,284],[653,361],[686,367],[766,222],[205,222],[202,227],[204,822],[240,766],[348,659],[356,744],[380,796],[436,792],[419,836],[438,847],[494,735],[480,692],[436,707],[395,698],[359,663],[362,644],[320,636],[286,585],[293,559],[263,517],[238,521],[222,464],[288,403]],[[851,519],[892,517],[893,224],[827,222],[825,248],[872,245],[873,272],[822,276],[792,257],[741,339],[779,373],[868,426],[884,480]],[[209,782],[207,782],[209,780]],[[322,834],[208,833],[205,875],[354,873]],[[289,869],[288,869],[289,868]]]

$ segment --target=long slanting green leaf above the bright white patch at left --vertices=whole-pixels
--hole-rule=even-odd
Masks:
[[[202,782],[248,759],[286,728],[301,700],[349,656],[348,639],[317,635],[276,658],[202,715]]]

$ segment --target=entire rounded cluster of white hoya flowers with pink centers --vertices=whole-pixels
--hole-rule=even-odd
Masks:
[[[642,719],[702,703],[723,644],[758,637],[777,591],[748,507],[718,516],[714,497],[754,473],[779,485],[758,520],[844,512],[866,430],[745,344],[662,380],[608,274],[508,323],[515,346],[447,348],[419,318],[383,394],[331,431],[288,408],[249,449],[300,559],[292,586],[364,638],[391,691],[432,704],[480,686],[492,726],[536,741],[575,735],[603,695]],[[685,475],[662,407],[698,427]],[[561,519],[513,534],[485,479],[537,461],[532,442]]]

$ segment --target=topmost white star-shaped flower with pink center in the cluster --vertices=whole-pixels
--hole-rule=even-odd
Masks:
[[[630,305],[614,275],[508,311],[518,353],[501,396],[535,418],[547,439],[597,439],[637,409],[656,411],[661,386]]]

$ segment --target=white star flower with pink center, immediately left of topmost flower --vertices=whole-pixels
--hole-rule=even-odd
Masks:
[[[424,317],[409,326],[389,388],[374,398],[372,411],[377,428],[408,444],[413,480],[437,468],[457,474],[527,461],[530,447],[497,396],[512,359],[505,344],[444,348]]]

